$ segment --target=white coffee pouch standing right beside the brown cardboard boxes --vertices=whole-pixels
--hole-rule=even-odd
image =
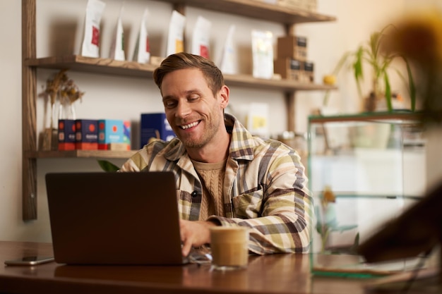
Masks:
[[[253,77],[273,77],[273,33],[252,30]]]

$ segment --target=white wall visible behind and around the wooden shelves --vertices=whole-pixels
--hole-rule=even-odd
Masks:
[[[107,0],[107,8],[103,16],[102,56],[107,57],[110,36],[117,21],[121,1]],[[81,1],[49,1],[37,0],[37,56],[54,54],[54,40],[59,40],[54,27],[75,28],[70,42],[71,49],[78,53],[86,0]],[[124,27],[128,32],[129,56],[132,56],[136,27],[141,20],[143,8],[149,7],[152,19],[148,31],[152,36],[154,55],[164,55],[168,19],[171,6],[159,1],[126,1],[123,17]],[[334,23],[305,24],[297,26],[297,34],[305,35],[309,40],[309,59],[315,62],[316,82],[321,82],[322,76],[331,71],[344,51],[354,49],[364,42],[367,36],[378,30],[391,16],[402,11],[404,0],[318,0],[318,11],[336,16]],[[48,171],[80,171],[98,170],[95,160],[91,159],[39,159],[37,161],[39,177],[38,189],[38,219],[24,223],[21,220],[21,44],[20,44],[20,9],[21,3],[16,0],[0,1],[0,37],[2,48],[0,54],[1,71],[0,85],[2,92],[0,107],[1,122],[1,152],[0,161],[0,240],[32,240],[50,241],[47,202],[43,182],[44,173]],[[57,13],[57,14],[54,14]],[[237,25],[236,39],[239,47],[239,67],[241,73],[251,73],[250,31],[252,28],[272,30],[275,37],[284,35],[284,27],[275,23],[229,16],[224,13],[190,9],[186,27],[187,38],[193,27],[196,16],[203,14],[213,22],[213,59],[217,61],[230,23]],[[40,18],[39,18],[40,16]],[[44,16],[42,18],[41,16]],[[49,31],[49,32],[48,32]],[[48,44],[52,44],[49,46]],[[59,42],[59,51],[66,50],[66,43]],[[65,51],[64,51],[65,52]],[[66,52],[65,52],[66,53]],[[68,52],[69,53],[69,52]],[[40,78],[37,89],[39,92],[44,82],[54,71],[39,70]],[[80,118],[130,118],[136,121],[141,112],[161,111],[159,92],[152,80],[143,78],[124,78],[111,75],[96,75],[85,73],[69,73],[76,80],[81,90],[86,92],[83,102],[77,105],[77,115]],[[358,102],[353,80],[348,75],[340,77],[340,91],[333,93],[330,104],[338,111],[357,111]],[[231,104],[240,109],[249,102],[269,102],[270,131],[272,135],[286,128],[285,103],[282,94],[274,91],[246,90],[232,88]],[[321,106],[323,93],[299,92],[297,97],[297,130],[306,130],[306,116],[311,109]],[[124,103],[121,103],[123,102]],[[44,104],[38,102],[38,128],[43,126],[42,112]],[[121,161],[115,161],[120,164]]]

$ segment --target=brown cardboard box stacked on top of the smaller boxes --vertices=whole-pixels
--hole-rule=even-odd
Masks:
[[[299,61],[307,59],[307,38],[286,36],[277,38],[277,59],[290,58]]]

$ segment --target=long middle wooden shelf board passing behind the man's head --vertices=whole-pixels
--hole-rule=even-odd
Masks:
[[[67,68],[70,71],[138,78],[152,78],[153,71],[156,68],[156,66],[151,64],[138,63],[136,61],[115,61],[114,59],[90,58],[79,55],[26,59],[25,66],[52,68],[57,70]],[[282,90],[285,92],[336,89],[334,86],[294,82],[292,80],[266,80],[253,78],[252,75],[225,75],[225,82],[227,86]]]

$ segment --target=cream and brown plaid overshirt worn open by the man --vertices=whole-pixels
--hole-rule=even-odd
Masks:
[[[277,140],[254,137],[225,114],[232,134],[224,180],[222,226],[251,229],[249,250],[259,255],[308,252],[313,199],[299,154]],[[173,171],[181,219],[198,220],[203,188],[184,145],[177,138],[145,145],[120,171]]]

